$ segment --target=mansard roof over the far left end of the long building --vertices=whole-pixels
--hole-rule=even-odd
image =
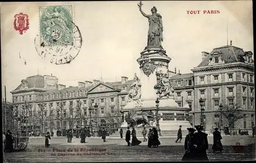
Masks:
[[[44,76],[34,75],[31,77],[27,77],[25,81],[28,82],[28,89],[29,88],[41,88],[41,89],[45,88]],[[15,90],[19,90],[20,87],[22,87],[22,83],[20,83]]]

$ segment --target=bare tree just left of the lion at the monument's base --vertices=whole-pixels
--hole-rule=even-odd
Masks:
[[[104,119],[109,123],[119,125],[116,127],[120,127],[120,125],[122,123],[122,113],[120,112],[120,110],[114,110],[113,112],[112,112],[112,110],[107,111],[104,114]]]

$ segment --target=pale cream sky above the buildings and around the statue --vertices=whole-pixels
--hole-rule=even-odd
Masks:
[[[129,2],[34,2],[1,3],[2,96],[29,76],[53,75],[59,84],[77,86],[78,81],[133,79],[139,72],[137,58],[147,43],[148,20],[137,4]],[[155,6],[163,21],[162,46],[172,58],[170,71],[191,73],[202,61],[201,52],[229,44],[253,52],[252,1],[142,1],[151,14]],[[81,50],[70,64],[55,65],[39,57],[34,38],[39,34],[39,6],[72,5],[74,23],[83,39]],[[187,11],[200,10],[200,14]],[[219,14],[203,14],[219,10]],[[29,15],[29,29],[23,35],[13,28],[14,15]],[[228,29],[228,30],[227,30]],[[228,32],[227,32],[228,31]],[[228,38],[227,38],[228,36]],[[19,54],[21,59],[19,58]],[[25,65],[26,60],[26,65]]]

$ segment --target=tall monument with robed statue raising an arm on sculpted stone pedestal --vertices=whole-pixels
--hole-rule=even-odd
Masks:
[[[137,62],[140,65],[140,75],[134,76],[134,83],[129,90],[129,100],[121,110],[126,119],[121,127],[136,127],[140,132],[140,126],[155,127],[159,113],[159,126],[161,134],[168,136],[177,135],[179,126],[187,132],[191,127],[188,122],[189,107],[180,107],[175,102],[175,90],[169,80],[168,63],[171,58],[167,56],[161,42],[163,41],[162,16],[157,13],[157,8],[151,9],[152,14],[147,15],[142,11],[142,3],[138,4],[139,11],[148,19],[149,29],[147,34],[147,46],[140,53]],[[159,99],[158,111],[156,100]],[[151,122],[153,121],[153,122]],[[150,123],[151,122],[151,123]],[[139,130],[139,131],[138,131]]]

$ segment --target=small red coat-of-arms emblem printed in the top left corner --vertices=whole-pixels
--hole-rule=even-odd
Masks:
[[[22,12],[14,15],[13,26],[16,31],[22,35],[29,29],[29,16],[27,14],[23,14]]]

